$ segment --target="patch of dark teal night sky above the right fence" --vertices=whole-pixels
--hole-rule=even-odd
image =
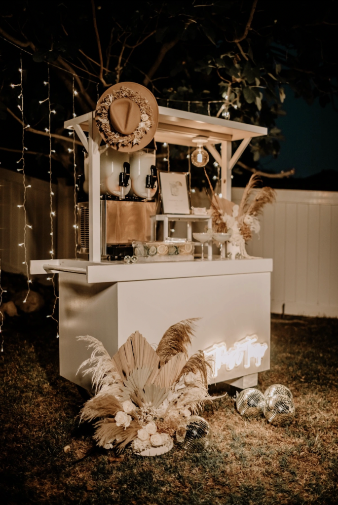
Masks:
[[[295,98],[292,89],[286,87],[285,91],[286,116],[277,120],[285,140],[280,142],[276,160],[272,156],[261,159],[262,169],[280,172],[295,168],[295,177],[338,171],[338,110],[332,104],[321,107],[318,99],[308,105],[303,98]]]

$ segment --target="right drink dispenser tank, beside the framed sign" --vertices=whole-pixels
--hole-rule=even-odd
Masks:
[[[152,200],[157,191],[156,155],[153,149],[130,154],[130,178],[133,194]]]

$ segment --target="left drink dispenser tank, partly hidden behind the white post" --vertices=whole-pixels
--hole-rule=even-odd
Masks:
[[[112,149],[107,144],[100,147],[100,193],[111,194],[124,200],[130,184],[129,154]],[[83,190],[88,193],[88,155],[84,155]]]

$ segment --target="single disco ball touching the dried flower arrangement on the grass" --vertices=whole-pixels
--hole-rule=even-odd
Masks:
[[[200,452],[209,445],[209,423],[200,416],[190,416],[176,430],[177,442],[191,452]]]

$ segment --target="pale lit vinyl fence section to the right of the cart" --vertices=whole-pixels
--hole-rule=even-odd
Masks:
[[[273,258],[271,312],[338,317],[338,193],[277,190],[247,251]]]

